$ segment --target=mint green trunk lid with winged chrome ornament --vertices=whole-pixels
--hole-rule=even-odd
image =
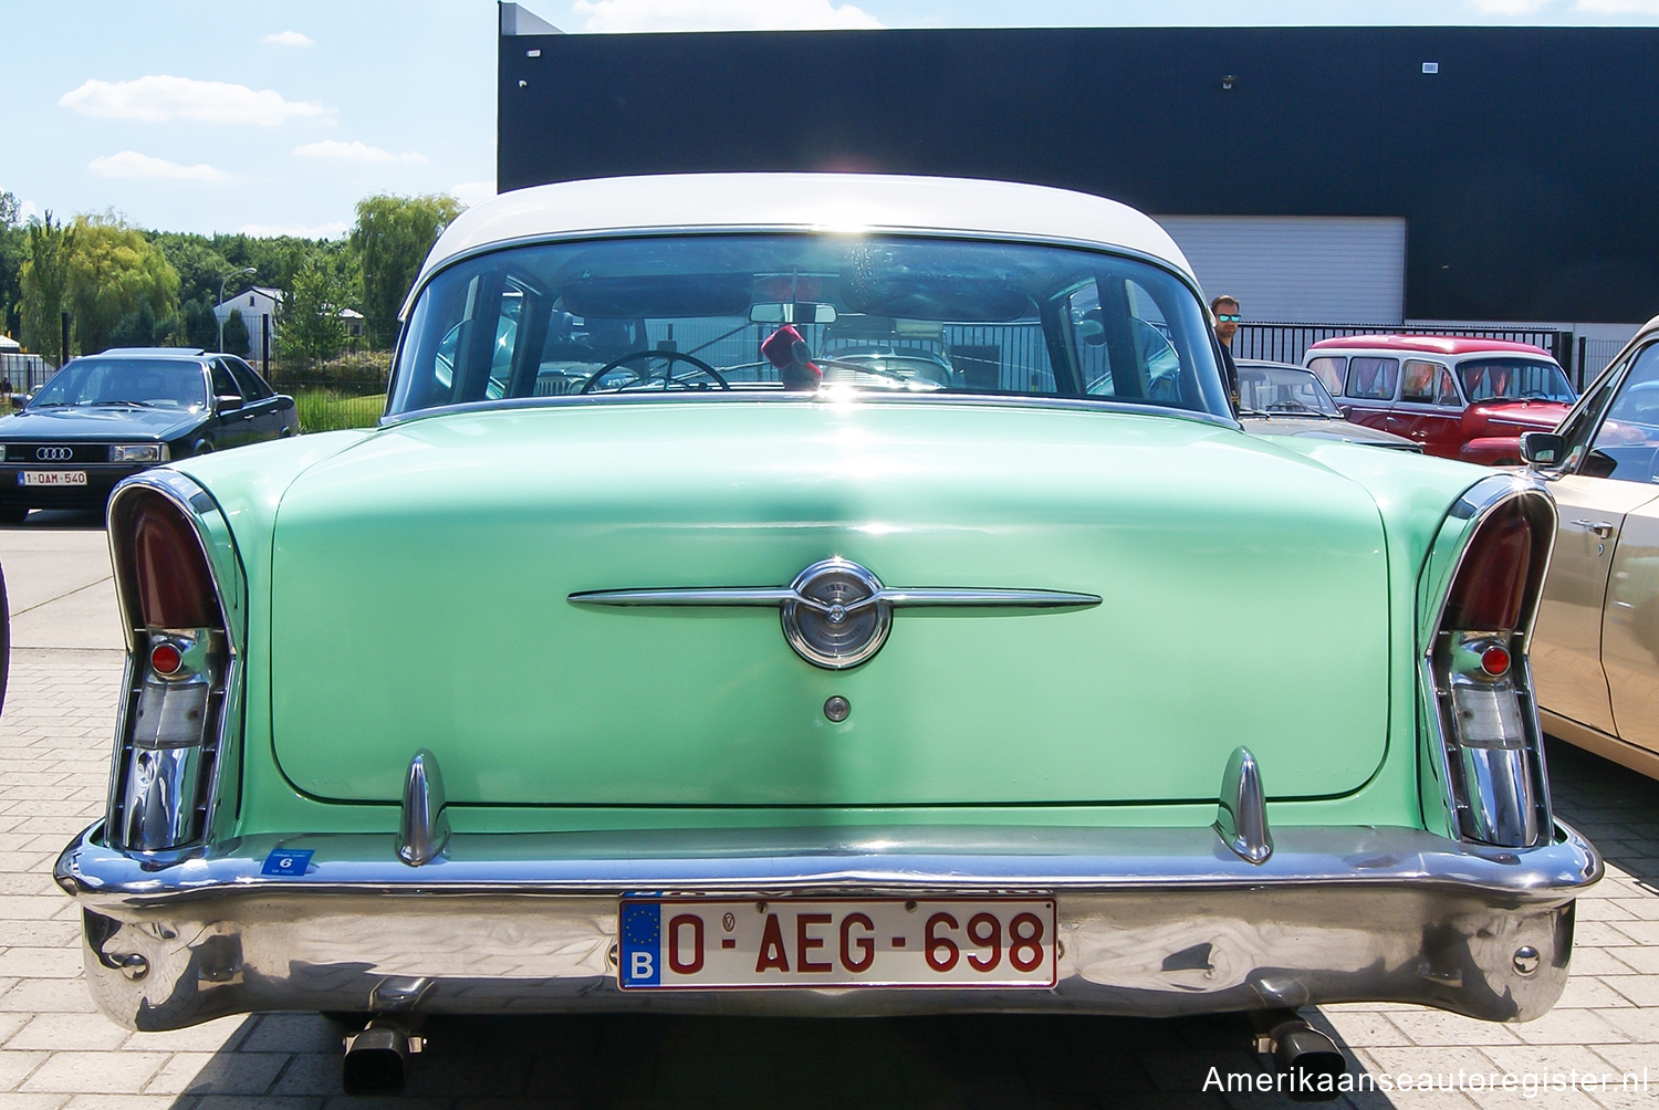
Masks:
[[[295,786],[451,803],[1110,803],[1352,791],[1389,727],[1382,523],[1304,456],[1156,415],[939,403],[606,403],[423,418],[284,494],[272,735]],[[1098,594],[899,609],[841,672],[776,609],[576,606],[786,586]],[[841,695],[851,713],[825,715]]]

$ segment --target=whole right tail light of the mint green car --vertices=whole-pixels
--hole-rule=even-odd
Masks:
[[[1526,848],[1550,835],[1526,640],[1554,541],[1554,506],[1508,478],[1488,480],[1470,496],[1481,493],[1488,501],[1475,509],[1427,659],[1458,835]]]

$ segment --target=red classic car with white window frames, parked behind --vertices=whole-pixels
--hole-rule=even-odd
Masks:
[[[1486,466],[1520,465],[1523,431],[1553,431],[1576,395],[1541,347],[1501,338],[1349,335],[1307,348],[1344,415]]]

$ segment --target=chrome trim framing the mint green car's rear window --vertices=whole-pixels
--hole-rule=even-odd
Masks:
[[[1170,274],[1183,285],[1188,292],[1198,297],[1199,304],[1204,304],[1204,290],[1199,289],[1198,279],[1191,274],[1173,265],[1168,259],[1161,259],[1156,254],[1148,254],[1145,251],[1136,251],[1135,247],[1115,247],[1112,244],[1095,242],[1090,239],[1065,239],[1050,236],[1030,236],[1020,232],[984,232],[984,231],[966,231],[966,229],[944,229],[944,227],[889,227],[889,226],[869,226],[858,227],[856,231],[830,229],[813,224],[727,224],[727,226],[654,226],[654,227],[629,227],[629,229],[602,229],[602,231],[577,231],[577,232],[556,232],[556,234],[538,234],[538,236],[516,236],[513,239],[498,239],[494,242],[479,244],[469,247],[458,254],[450,256],[440,265],[433,267],[430,272],[420,275],[413,289],[410,289],[408,297],[403,299],[403,307],[398,310],[398,342],[392,352],[392,373],[387,380],[387,405],[392,405],[392,398],[397,395],[398,388],[398,370],[403,365],[403,343],[408,342],[408,315],[415,309],[415,302],[426,292],[426,287],[440,275],[448,272],[451,267],[479,259],[488,254],[496,254],[501,251],[513,251],[518,247],[539,247],[554,246],[561,242],[606,242],[606,241],[625,241],[625,239],[674,239],[685,236],[901,236],[907,239],[952,239],[967,242],[1009,242],[1020,246],[1040,246],[1040,247],[1065,247],[1072,251],[1090,251],[1093,254],[1108,254],[1123,259],[1131,259],[1136,262],[1146,262],[1158,267],[1165,274]],[[1214,347],[1219,340],[1214,337],[1214,329],[1209,330],[1209,342]],[[1216,372],[1221,372],[1219,362]],[[1226,383],[1223,382],[1223,392],[1226,392]],[[209,390],[211,393],[211,390]],[[964,397],[974,398],[997,398],[999,393],[967,393]],[[438,411],[456,411],[456,410],[473,410],[476,407],[499,407],[508,402],[526,402],[526,400],[567,400],[567,398],[499,398],[494,402],[461,402],[458,405],[433,405],[428,408],[416,408],[406,413],[387,413],[380,418],[380,426],[388,426],[392,423],[400,423],[403,420]],[[615,397],[599,398],[599,400],[620,400]],[[735,400],[735,398],[727,398]],[[944,400],[944,398],[934,398]],[[1042,400],[1042,398],[1034,398]],[[1087,400],[1087,398],[1060,398],[1060,400]],[[1239,428],[1241,425],[1229,415],[1221,416],[1218,413],[1199,413],[1191,408],[1175,408],[1168,405],[1125,405],[1117,403],[1118,408],[1130,411],[1156,411],[1156,413],[1185,413],[1190,416],[1211,416],[1223,426]]]

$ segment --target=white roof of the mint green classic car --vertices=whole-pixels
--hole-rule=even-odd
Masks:
[[[1087,192],[964,178],[672,174],[567,181],[484,201],[443,232],[415,289],[450,259],[496,244],[675,227],[1029,236],[1123,247],[1193,274],[1175,239],[1151,217]]]

